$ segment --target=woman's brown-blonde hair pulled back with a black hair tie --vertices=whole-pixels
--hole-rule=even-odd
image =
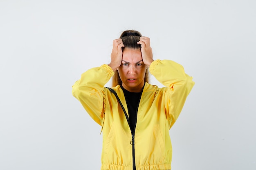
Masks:
[[[133,33],[128,35],[128,33]],[[139,42],[139,39],[141,37],[141,33],[139,31],[135,31],[135,30],[126,30],[123,33],[121,33],[120,38],[123,41],[124,44],[124,48],[129,48],[129,49],[141,49],[141,45],[137,44],[137,42]],[[122,50],[124,50],[124,48],[122,48]],[[145,82],[149,83],[149,71],[148,68],[146,68],[146,73],[145,73]],[[112,87],[115,87],[117,85],[121,85],[122,81],[121,78],[119,77],[119,73],[118,70],[115,71],[115,74],[112,77]]]

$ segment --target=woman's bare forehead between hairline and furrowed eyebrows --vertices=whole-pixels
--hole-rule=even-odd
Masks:
[[[142,60],[140,49],[124,48],[122,60],[125,60],[127,62],[138,62]]]

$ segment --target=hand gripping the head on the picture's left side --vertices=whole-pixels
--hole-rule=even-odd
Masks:
[[[116,71],[117,68],[122,63],[122,57],[123,57],[122,47],[124,47],[124,44],[123,44],[123,41],[121,38],[113,40],[111,62],[110,62],[110,64],[108,64],[108,66],[110,66],[113,71]]]

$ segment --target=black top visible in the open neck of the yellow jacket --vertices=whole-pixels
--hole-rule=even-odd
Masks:
[[[139,101],[140,101],[142,91],[139,93],[129,92],[126,89],[124,89],[123,86],[121,86],[121,88],[124,91],[124,97],[125,97],[127,108],[128,108],[130,128],[132,130],[132,133],[134,133],[136,121],[137,121],[137,112],[138,112],[138,107],[139,107]]]

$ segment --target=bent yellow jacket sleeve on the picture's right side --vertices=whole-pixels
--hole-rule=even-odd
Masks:
[[[184,72],[182,65],[171,60],[155,60],[150,65],[150,73],[166,88],[162,88],[165,113],[169,120],[169,128],[173,126],[177,117],[194,86],[190,77]]]

